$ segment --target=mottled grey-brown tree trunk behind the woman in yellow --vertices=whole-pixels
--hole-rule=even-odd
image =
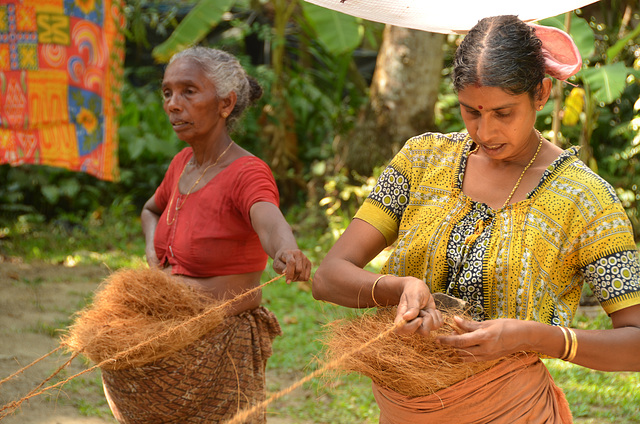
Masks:
[[[336,170],[371,175],[418,134],[434,130],[445,36],[387,25],[356,129],[338,142]]]

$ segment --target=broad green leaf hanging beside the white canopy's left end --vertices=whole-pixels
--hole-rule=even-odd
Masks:
[[[363,29],[355,16],[308,2],[302,3],[302,9],[315,30],[318,41],[330,53],[349,53],[362,42]]]

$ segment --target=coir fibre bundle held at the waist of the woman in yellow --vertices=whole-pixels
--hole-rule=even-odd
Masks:
[[[456,315],[465,317],[464,311]],[[340,363],[340,372],[363,374],[379,386],[405,396],[427,396],[449,387],[475,373],[495,365],[487,362],[462,362],[455,349],[435,343],[435,336],[451,334],[457,326],[453,312],[442,313],[445,324],[431,337],[390,333]],[[344,352],[356,350],[393,326],[396,308],[379,309],[348,320],[328,324],[325,349],[327,361]],[[468,317],[467,317],[468,318]]]

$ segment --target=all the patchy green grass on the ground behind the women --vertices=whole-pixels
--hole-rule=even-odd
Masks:
[[[143,263],[144,245],[136,216],[110,216],[106,211],[100,220],[94,219],[82,226],[84,230],[69,233],[55,225],[24,220],[6,225],[0,231],[0,234],[4,234],[0,238],[0,254],[19,257],[27,263],[45,261],[66,263],[68,266],[104,264],[114,270]],[[299,233],[300,246],[317,265],[323,252],[328,249],[327,239],[318,245],[311,237],[305,238],[303,231],[299,230]],[[320,234],[318,231],[314,233],[316,237]],[[378,269],[383,260],[384,255],[371,268]],[[269,265],[263,281],[273,276],[275,273]],[[17,284],[35,290],[41,283],[33,280]],[[276,314],[283,330],[283,336],[274,342],[274,354],[267,366],[268,375],[277,377],[268,380],[269,394],[287,389],[317,369],[322,358],[324,324],[358,313],[315,301],[310,288],[309,283],[286,284],[284,279],[280,279],[263,290],[264,304]],[[80,299],[78,308],[87,300]],[[71,315],[73,311],[68,312]],[[56,330],[54,327],[66,323],[43,323],[32,331],[53,335]],[[610,321],[602,313],[595,319],[578,316],[573,325],[577,328],[610,328]],[[640,373],[605,373],[559,360],[547,359],[545,362],[557,384],[565,391],[576,423],[640,423]],[[98,393],[90,399],[69,400],[87,415],[101,415],[105,410],[97,379],[97,376],[78,379],[72,385],[65,386],[70,399],[73,399],[73,392],[81,387]],[[274,401],[269,406],[270,413],[300,423],[377,422],[378,408],[368,378],[326,374],[313,379],[304,388],[302,395],[294,392]]]

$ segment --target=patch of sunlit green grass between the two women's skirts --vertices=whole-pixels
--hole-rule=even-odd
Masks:
[[[265,272],[268,278],[273,270]],[[267,278],[266,277],[266,278]],[[265,278],[265,280],[266,280]],[[283,335],[273,343],[273,356],[267,371],[280,376],[287,384],[268,384],[269,394],[285,390],[322,366],[324,325],[353,311],[313,299],[308,283],[287,285],[284,279],[263,290],[264,304],[280,321]],[[274,415],[295,417],[307,423],[374,423],[378,408],[368,378],[357,375],[320,375],[303,387],[306,395],[285,395],[269,406]],[[269,383],[269,382],[268,382]],[[292,401],[290,398],[294,397]]]

